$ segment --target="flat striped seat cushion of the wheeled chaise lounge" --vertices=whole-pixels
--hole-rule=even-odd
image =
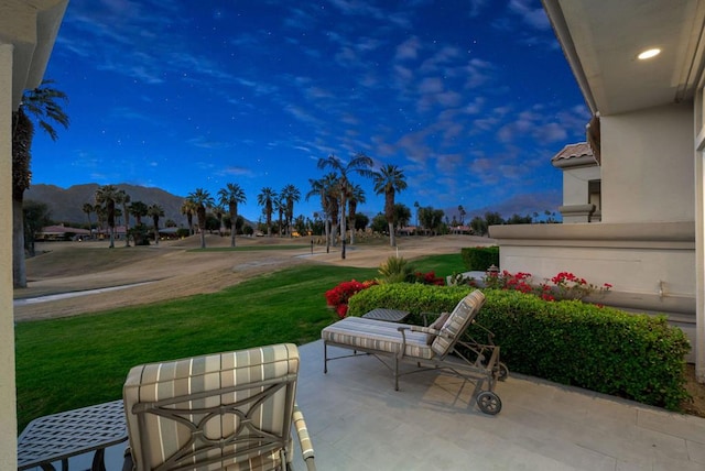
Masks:
[[[386,322],[383,320],[346,317],[321,331],[323,340],[359,349],[398,353],[401,350],[402,337],[399,327],[405,324]],[[408,330],[406,349],[409,357],[431,359],[433,352],[426,344],[426,335]]]

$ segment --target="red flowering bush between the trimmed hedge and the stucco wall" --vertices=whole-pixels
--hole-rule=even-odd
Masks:
[[[485,276],[485,287],[495,289],[513,289],[525,294],[534,294],[544,300],[556,299],[583,299],[593,293],[605,293],[612,287],[609,283],[596,286],[587,283],[585,278],[575,276],[570,272],[561,272],[552,278],[545,278],[542,283],[531,283],[531,273],[489,273]],[[470,281],[470,285],[475,285]]]

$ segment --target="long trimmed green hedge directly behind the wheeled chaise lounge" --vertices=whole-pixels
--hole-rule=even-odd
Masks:
[[[349,314],[398,308],[410,310],[412,322],[419,322],[419,314],[452,310],[468,292],[467,286],[371,286],[350,298]],[[672,410],[687,397],[684,355],[690,344],[665,317],[576,300],[547,303],[512,291],[484,293],[477,321],[495,333],[510,371]],[[486,338],[468,330],[474,333]]]

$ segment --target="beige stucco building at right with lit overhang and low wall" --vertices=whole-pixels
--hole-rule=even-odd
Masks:
[[[705,2],[542,2],[593,114],[589,145],[553,157],[572,223],[489,229],[501,269],[571,271],[612,284],[605,304],[668,314],[705,382]]]

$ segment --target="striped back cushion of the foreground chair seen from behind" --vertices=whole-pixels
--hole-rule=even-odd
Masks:
[[[254,428],[281,437],[280,441],[291,450],[291,417],[295,380],[299,372],[299,351],[294,344],[278,344],[241,350],[237,352],[210,354],[164,363],[134,366],[130,370],[123,387],[130,447],[138,469],[155,469],[172,457],[192,439],[192,428],[205,419],[204,436],[209,440],[254,437],[256,431],[242,425],[238,414],[249,414]],[[264,391],[264,386],[248,387],[261,381],[282,382],[286,385],[269,396],[262,404],[253,406],[247,399]],[[219,391],[237,385],[237,391]],[[240,388],[242,386],[242,388]],[[182,418],[174,420],[150,413],[144,403],[177,398],[164,408],[185,409]],[[216,414],[206,418],[199,407],[238,405],[237,413]],[[147,408],[145,413],[134,410]],[[281,443],[280,443],[281,445]],[[247,443],[228,443],[223,449],[207,447],[186,460],[187,463],[214,460],[198,467],[199,470],[228,469],[275,469],[281,464],[282,454],[273,446],[262,450],[245,450]],[[194,451],[204,448],[196,439],[187,447]],[[281,446],[280,446],[281,448]],[[237,457],[223,458],[238,452]],[[239,454],[242,452],[242,454]],[[291,456],[291,454],[290,454]]]

